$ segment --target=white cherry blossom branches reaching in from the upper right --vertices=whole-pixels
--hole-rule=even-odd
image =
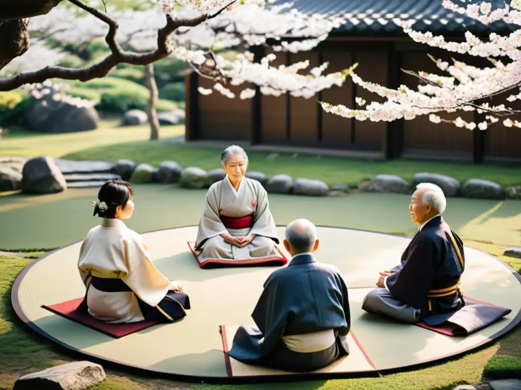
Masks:
[[[432,0],[441,1],[441,0]],[[457,1],[457,0],[456,0]],[[490,24],[503,20],[508,24],[521,25],[521,1],[512,0],[510,5],[492,9],[491,3],[470,3],[469,0],[459,0],[457,5],[451,0],[443,0],[443,6],[454,12],[478,20],[483,24]],[[499,122],[503,118],[503,125],[507,127],[521,127],[521,122],[512,120],[508,116],[519,114],[521,111],[513,108],[510,103],[521,99],[521,29],[508,36],[492,33],[489,40],[481,41],[470,32],[465,33],[464,42],[448,42],[441,35],[420,33],[412,29],[414,21],[393,20],[400,25],[403,31],[415,42],[440,48],[442,50],[488,59],[490,66],[479,68],[465,62],[453,60],[452,63],[431,57],[444,75],[427,72],[407,71],[407,74],[417,77],[423,85],[417,90],[401,85],[398,89],[362,80],[355,72],[350,74],[353,82],[387,100],[369,102],[357,98],[356,102],[362,108],[348,108],[343,105],[332,105],[321,102],[326,112],[355,118],[358,121],[394,121],[398,119],[411,120],[419,115],[429,115],[431,122],[449,122],[457,127],[470,130],[476,127],[485,130],[490,124]],[[508,93],[511,95],[508,96]],[[492,102],[492,98],[501,98],[507,94],[501,104]],[[497,99],[495,99],[497,100]],[[455,120],[444,120],[439,116],[443,112],[477,111],[483,120],[479,123],[465,122],[460,117]]]

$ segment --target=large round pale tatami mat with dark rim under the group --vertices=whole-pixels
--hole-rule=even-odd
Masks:
[[[278,227],[279,237],[284,228]],[[20,319],[34,331],[76,352],[157,376],[185,381],[233,383],[229,378],[219,326],[253,324],[250,317],[263,283],[274,267],[201,269],[187,242],[197,227],[144,233],[154,264],[171,280],[179,280],[190,295],[192,309],[181,321],[163,324],[113,339],[51,313],[52,305],[84,294],[77,269],[81,242],[36,259],[20,274],[11,301]],[[378,271],[400,261],[410,238],[345,228],[319,227],[320,262],[336,265],[349,287],[352,332],[364,354],[345,362],[351,369],[314,374],[315,379],[395,372],[419,367],[480,347],[521,321],[521,281],[512,268],[481,251],[466,248],[462,277],[465,295],[504,306],[512,312],[490,327],[467,337],[449,337],[424,328],[376,318],[361,309],[362,300],[378,279]],[[356,359],[365,358],[370,367]],[[360,367],[360,369],[358,369]],[[346,372],[348,371],[348,372]],[[280,379],[281,376],[279,376]],[[284,376],[284,375],[282,375]],[[301,375],[290,375],[302,379]],[[288,379],[291,379],[288,378]],[[256,376],[254,382],[265,378]]]

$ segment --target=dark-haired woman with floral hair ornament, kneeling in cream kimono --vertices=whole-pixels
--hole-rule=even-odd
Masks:
[[[93,202],[93,215],[102,220],[80,248],[78,269],[86,288],[80,309],[108,323],[183,318],[188,295],[159,272],[139,233],[123,223],[134,211],[133,194],[126,181],[110,180]]]

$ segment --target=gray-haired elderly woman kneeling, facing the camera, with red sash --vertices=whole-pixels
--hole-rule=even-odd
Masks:
[[[195,241],[200,265],[282,259],[267,192],[257,180],[244,176],[246,152],[240,146],[229,146],[222,152],[221,164],[226,177],[208,189]]]

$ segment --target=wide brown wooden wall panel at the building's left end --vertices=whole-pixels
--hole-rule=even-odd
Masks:
[[[199,77],[199,86],[212,88],[215,81]],[[225,87],[235,94],[230,99],[214,89],[210,95],[199,94],[200,139],[247,141],[251,137],[251,99],[239,99],[250,84]]]

